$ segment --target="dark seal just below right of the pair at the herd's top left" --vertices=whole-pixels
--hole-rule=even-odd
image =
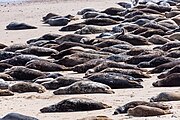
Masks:
[[[66,25],[62,27],[59,31],[76,31],[78,29],[81,29],[85,26],[85,24],[82,23],[74,23],[70,25]]]

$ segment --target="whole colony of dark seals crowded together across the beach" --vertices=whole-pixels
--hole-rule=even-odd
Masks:
[[[145,90],[144,82],[155,73],[159,74],[150,87],[179,87],[179,1],[132,0],[132,3],[118,2],[119,7],[104,10],[84,8],[77,15],[48,13],[42,18],[43,24],[60,26],[59,31],[67,34],[47,33],[25,44],[2,44],[0,96],[13,97],[25,92],[50,92],[56,97],[110,96],[117,94],[115,89]],[[38,27],[18,22],[6,26],[6,30],[20,29]],[[82,73],[83,77],[59,74],[64,71]],[[43,114],[113,109],[114,115],[126,113],[134,117],[174,115],[171,109],[176,106],[169,102],[179,102],[180,94],[162,91],[147,99],[119,104],[114,110],[107,102],[108,97],[100,101],[73,96],[50,106],[45,104],[39,111]]]

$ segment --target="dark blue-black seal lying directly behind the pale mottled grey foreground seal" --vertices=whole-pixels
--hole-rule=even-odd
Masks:
[[[139,79],[119,73],[94,73],[87,78],[94,82],[106,84],[112,89],[143,88],[143,86],[137,82]]]

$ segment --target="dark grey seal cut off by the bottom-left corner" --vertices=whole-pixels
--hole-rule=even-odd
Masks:
[[[38,120],[38,119],[19,113],[8,113],[2,118],[2,120]]]

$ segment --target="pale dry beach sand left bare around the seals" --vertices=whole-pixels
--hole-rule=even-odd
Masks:
[[[42,0],[43,1],[43,0]],[[117,6],[115,3],[119,0],[65,0],[65,1],[51,1],[51,2],[28,2],[28,3],[16,3],[16,4],[2,4],[0,6],[0,38],[1,43],[10,45],[12,43],[25,43],[26,40],[31,38],[40,37],[46,33],[61,33],[58,30],[60,27],[49,27],[43,25],[41,19],[47,13],[57,13],[59,15],[72,14],[76,15],[77,11],[84,7],[93,7],[98,10],[105,9],[111,6]],[[5,26],[12,22],[26,22],[38,27],[37,30],[20,30],[20,31],[7,31]],[[67,73],[63,74],[69,76],[79,76],[79,74]],[[82,75],[83,76],[83,75]],[[179,87],[172,88],[154,88],[152,82],[156,81],[156,75],[153,75],[151,79],[144,79],[142,83],[143,89],[118,89],[115,90],[115,94],[84,94],[84,95],[59,95],[55,96],[52,91],[48,91],[43,94],[38,93],[24,93],[15,94],[12,97],[0,97],[0,116],[3,116],[9,112],[18,112],[25,115],[34,116],[40,120],[75,120],[87,116],[95,115],[106,115],[115,120],[122,119],[137,119],[137,120],[149,120],[149,119],[180,119],[180,102],[166,102],[166,104],[173,106],[173,114],[147,117],[147,118],[136,118],[129,117],[125,114],[113,116],[117,106],[123,105],[132,100],[145,100],[157,95],[163,91],[178,91]],[[47,105],[57,103],[65,98],[71,97],[86,97],[92,98],[111,105],[112,108],[97,111],[88,112],[70,112],[70,113],[40,113],[39,109]]]

